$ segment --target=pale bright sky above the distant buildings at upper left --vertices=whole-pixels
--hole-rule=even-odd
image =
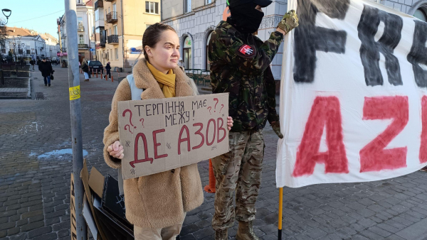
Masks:
[[[49,33],[58,39],[56,18],[65,12],[63,0],[0,0],[0,9],[12,11],[7,26]],[[6,17],[0,13],[0,18]]]

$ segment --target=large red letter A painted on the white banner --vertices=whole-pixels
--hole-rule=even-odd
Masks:
[[[319,153],[325,126],[328,151]],[[292,176],[312,175],[316,163],[325,163],[325,173],[349,173],[337,97],[316,97],[298,147]]]

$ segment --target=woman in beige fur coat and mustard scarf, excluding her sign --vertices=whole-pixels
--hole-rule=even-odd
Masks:
[[[171,26],[156,23],[142,38],[144,59],[127,81],[120,82],[112,99],[110,124],[104,132],[107,165],[120,168],[123,146],[119,141],[117,102],[161,99],[197,94],[196,85],[178,66],[179,38]],[[135,95],[135,92],[140,94]],[[228,118],[228,130],[233,121]],[[197,164],[124,180],[126,218],[134,224],[135,239],[175,239],[186,212],[199,207],[203,192]]]

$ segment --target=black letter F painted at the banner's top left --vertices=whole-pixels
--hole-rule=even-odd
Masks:
[[[344,19],[349,0],[298,0],[297,14],[300,26],[295,28],[295,82],[315,80],[316,51],[345,53],[347,33],[316,25],[316,14],[325,13],[330,18]]]

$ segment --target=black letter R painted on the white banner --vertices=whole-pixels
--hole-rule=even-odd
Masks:
[[[375,42],[375,34],[380,22],[384,23],[384,33]],[[357,31],[362,42],[360,59],[364,67],[367,86],[382,85],[384,80],[379,70],[379,53],[386,58],[386,70],[390,84],[401,85],[399,60],[393,55],[394,48],[401,40],[401,31],[404,21],[400,16],[387,13],[371,6],[364,5]]]

